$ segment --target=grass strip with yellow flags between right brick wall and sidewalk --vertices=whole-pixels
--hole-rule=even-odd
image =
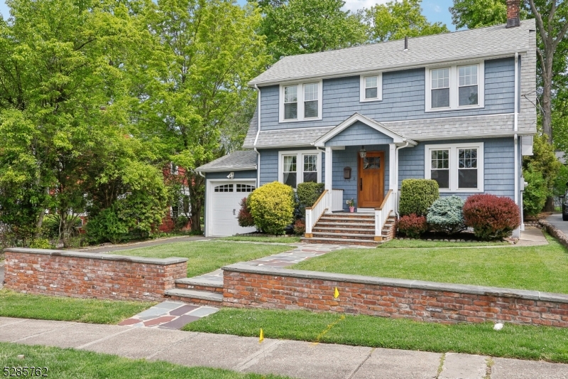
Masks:
[[[568,329],[542,326],[506,324],[494,331],[491,323],[442,325],[364,315],[341,319],[339,314],[309,311],[222,309],[183,330],[258,336],[261,328],[266,338],[568,363]]]

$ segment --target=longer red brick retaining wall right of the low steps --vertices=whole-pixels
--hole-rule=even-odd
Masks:
[[[224,306],[307,309],[445,324],[505,321],[568,327],[568,295],[564,294],[238,264],[223,270]]]

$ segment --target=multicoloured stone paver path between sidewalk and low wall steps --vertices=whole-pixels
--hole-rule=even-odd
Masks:
[[[200,320],[202,317],[209,316],[209,314],[214,314],[217,311],[219,309],[213,306],[164,301],[122,321],[119,325],[135,328],[182,329],[186,324]]]

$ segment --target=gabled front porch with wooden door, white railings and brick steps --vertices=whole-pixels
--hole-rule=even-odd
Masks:
[[[398,149],[409,145],[416,142],[357,113],[318,139],[315,146],[325,154],[325,190],[306,208],[306,241],[367,240],[376,245],[392,237],[398,208]],[[347,213],[346,201],[351,199],[357,213]],[[338,211],[346,214],[333,213]]]

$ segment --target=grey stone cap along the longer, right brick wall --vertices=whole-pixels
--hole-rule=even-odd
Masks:
[[[363,275],[336,274],[332,272],[304,271],[299,269],[283,269],[274,267],[249,266],[236,263],[222,267],[224,272],[246,272],[249,274],[275,275],[279,277],[297,277],[302,279],[320,279],[329,282],[349,282],[375,284],[388,287],[403,287],[424,289],[427,291],[458,292],[461,294],[476,294],[494,297],[515,297],[517,299],[555,301],[568,303],[568,294],[552,294],[550,292],[529,291],[526,289],[511,289],[501,287],[472,286],[469,284],[451,284],[426,282],[423,280],[391,279],[382,277],[366,277]]]

